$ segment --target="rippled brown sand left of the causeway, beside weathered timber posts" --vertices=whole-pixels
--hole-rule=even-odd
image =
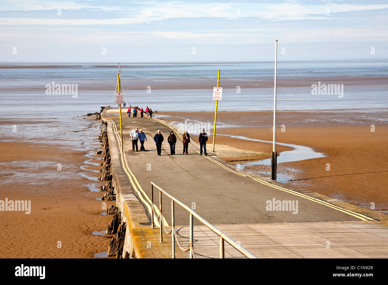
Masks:
[[[96,138],[98,133],[95,134]],[[109,238],[91,235],[106,230],[111,216],[100,215],[102,192],[90,192],[79,168],[85,155],[73,155],[58,145],[0,142],[2,166],[0,200],[31,200],[31,213],[0,212],[0,257],[71,258],[93,257],[107,251]],[[100,155],[102,157],[102,155]],[[26,162],[28,161],[28,162]],[[46,161],[42,167],[40,163]],[[94,162],[100,162],[95,160]],[[57,170],[57,163],[62,170]],[[88,169],[99,169],[88,166]],[[97,177],[100,173],[87,172]],[[41,176],[36,182],[36,176]],[[72,177],[72,179],[69,179]],[[32,184],[33,183],[40,184]],[[100,183],[102,184],[102,183]],[[115,202],[106,202],[107,207]],[[58,242],[61,248],[58,248]]]

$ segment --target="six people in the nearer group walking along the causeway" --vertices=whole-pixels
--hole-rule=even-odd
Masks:
[[[140,151],[142,150],[145,151],[144,141],[147,142],[147,136],[145,136],[145,133],[143,132],[143,130],[140,129],[139,131],[138,128],[135,128],[134,130],[131,131],[130,135],[132,140],[132,152],[135,151],[135,148],[136,148],[136,151],[138,151],[138,146],[137,146],[138,140],[140,140],[140,144],[141,144]],[[154,135],[154,142],[156,144],[156,150],[158,155],[161,155],[163,141],[164,141],[164,137],[161,134],[161,131],[158,130],[156,135]],[[208,141],[208,134],[205,133],[204,129],[202,129],[201,133],[199,134],[198,141],[200,145],[200,154],[202,155],[202,150],[204,150],[204,154],[205,156],[207,156],[208,154],[206,153],[206,142]],[[173,131],[170,131],[170,135],[167,138],[167,142],[170,145],[170,154],[175,155],[175,144],[177,143],[177,136],[175,136]],[[182,139],[183,154],[188,154],[189,142],[190,142],[190,135],[189,133],[187,133],[187,130],[185,130],[183,134],[183,139]]]

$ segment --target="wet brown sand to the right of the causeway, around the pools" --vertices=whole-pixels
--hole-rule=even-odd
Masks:
[[[383,118],[386,112],[381,112]],[[214,120],[212,113],[171,113],[160,112],[161,119],[169,122],[207,123]],[[257,160],[270,157],[272,143],[254,142],[232,135],[272,141],[273,112],[220,112],[217,114],[216,144],[229,145],[237,149],[263,152],[268,155],[256,157]],[[368,119],[364,110],[338,111],[281,111],[277,117],[277,142],[302,145],[321,152],[325,157],[302,161],[284,162],[277,165],[278,173],[291,175],[293,181],[286,182],[299,188],[318,192],[334,199],[343,200],[362,207],[375,204],[376,211],[388,210],[388,173],[387,138],[388,125],[381,124],[379,115],[374,121]],[[377,118],[376,118],[377,117]],[[357,122],[357,123],[355,123]],[[281,131],[284,124],[285,131]],[[371,132],[371,124],[375,131]],[[231,127],[230,125],[235,125]],[[265,127],[267,125],[267,127]],[[210,148],[213,142],[213,124],[208,131]],[[222,135],[221,135],[222,134]],[[227,136],[224,136],[227,135]],[[197,135],[191,133],[197,140]],[[277,151],[289,150],[278,146]],[[231,163],[244,163],[254,157],[223,157]],[[255,159],[256,160],[256,159]],[[327,169],[330,164],[330,170]],[[249,171],[270,171],[267,166],[244,168]],[[268,175],[267,175],[268,176]]]

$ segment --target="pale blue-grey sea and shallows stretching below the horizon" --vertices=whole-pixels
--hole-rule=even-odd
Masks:
[[[4,66],[11,68],[4,68]],[[114,92],[117,88],[118,64],[23,64],[35,68],[20,68],[18,64],[0,63],[1,117],[64,118],[84,115],[100,110],[100,106],[114,106]],[[12,68],[14,66],[14,68]],[[126,104],[146,105],[153,111],[214,111],[213,88],[190,89],[184,83],[191,79],[214,79],[220,69],[220,86],[233,79],[260,82],[261,78],[274,77],[274,62],[240,63],[171,63],[171,64],[121,64],[121,90],[125,92]],[[321,78],[321,84],[339,85],[338,94],[312,94],[319,84],[312,81],[307,87],[277,87],[277,110],[327,110],[327,109],[378,109],[388,107],[388,82],[376,81],[364,85],[363,79],[387,76],[388,60],[344,60],[344,61],[293,61],[277,63],[277,81],[282,79]],[[359,85],[347,86],[341,77],[360,78]],[[338,82],[325,78],[338,77]],[[149,82],[142,90],[131,86],[136,81]],[[85,83],[106,82],[108,88],[85,90]],[[75,95],[47,94],[47,86],[55,84],[78,85]],[[173,90],[151,88],[152,83],[180,85]],[[343,86],[341,86],[343,85]],[[109,90],[109,86],[111,89]],[[340,91],[341,90],[341,91]],[[340,93],[341,92],[341,93]],[[273,110],[274,87],[224,88],[218,111],[260,111]],[[5,110],[4,110],[5,109]]]

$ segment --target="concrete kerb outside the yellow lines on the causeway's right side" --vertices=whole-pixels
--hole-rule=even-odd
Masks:
[[[178,132],[177,128],[175,126],[173,126],[172,124],[170,124],[168,122],[165,122],[165,121],[161,121],[159,119],[156,119],[156,120],[160,121],[163,124],[168,125],[175,132]],[[199,148],[200,148],[200,144],[199,143],[195,142],[194,140],[191,140],[190,143],[199,150]],[[218,155],[215,154],[214,152],[208,151],[208,154],[212,154],[211,155],[212,159],[214,159],[217,162],[223,164],[227,168],[232,169],[232,170],[236,170],[236,167],[234,165],[230,164],[229,162],[226,162],[221,157],[218,157]],[[255,178],[267,181],[268,183],[271,183],[273,185],[277,185],[277,186],[280,186],[280,187],[283,187],[283,188],[286,188],[286,189],[289,189],[289,190],[293,190],[295,192],[302,193],[302,192],[306,191],[305,189],[300,189],[300,188],[292,187],[290,185],[285,185],[284,183],[281,183],[281,182],[278,182],[278,181],[272,181],[270,178],[263,177],[260,174],[252,173],[252,172],[249,172],[249,171],[246,171],[246,170],[239,170],[238,172],[241,173],[241,174],[250,175],[250,176],[253,176]],[[374,212],[372,210],[365,209],[365,208],[362,208],[362,207],[359,207],[359,206],[355,206],[353,204],[349,204],[349,203],[343,202],[341,200],[333,199],[331,197],[322,195],[322,194],[317,193],[317,192],[310,192],[310,193],[303,193],[303,194],[307,195],[307,196],[310,196],[310,197],[313,197],[313,198],[316,198],[316,199],[324,200],[326,202],[329,202],[330,204],[333,204],[335,206],[341,207],[341,208],[346,209],[346,210],[350,210],[350,211],[353,211],[353,212],[358,212],[360,214],[363,214],[365,216],[371,217],[371,218],[376,220],[376,221],[364,221],[364,222],[368,222],[368,223],[379,222],[379,223],[383,223],[383,224],[388,225],[388,216],[385,215],[385,214],[382,214],[382,213],[379,213],[379,212]]]

